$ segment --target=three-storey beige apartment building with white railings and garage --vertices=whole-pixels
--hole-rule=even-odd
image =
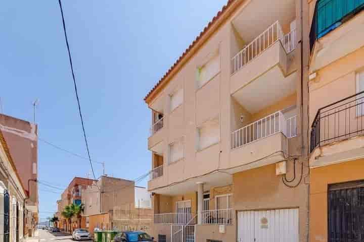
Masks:
[[[228,1],[147,94],[157,241],[307,241],[308,22]]]

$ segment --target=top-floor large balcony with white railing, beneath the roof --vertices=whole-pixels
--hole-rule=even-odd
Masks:
[[[296,90],[296,30],[283,33],[278,21],[232,58],[231,95],[253,113]],[[256,97],[256,93],[262,95]]]

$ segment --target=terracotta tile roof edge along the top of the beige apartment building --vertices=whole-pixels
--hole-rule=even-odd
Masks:
[[[203,31],[201,31],[200,34],[198,36],[196,36],[196,39],[192,42],[192,44],[190,44],[190,46],[185,50],[185,52],[181,56],[179,56],[179,58],[177,59],[177,61],[172,65],[172,67],[169,68],[169,70],[158,81],[158,83],[156,85],[154,85],[154,87],[152,88],[152,90],[150,90],[148,92],[148,94],[144,97],[144,101],[146,101],[147,98],[152,94],[152,92],[167,78],[167,76],[171,73],[171,71],[179,64],[179,62],[195,46],[195,44],[198,42],[198,40],[201,39],[201,37],[203,37],[204,34],[206,34],[207,30],[212,26],[212,24],[214,24],[219,19],[219,17],[228,9],[229,6],[231,6],[231,4],[234,1],[236,1],[236,0],[229,0],[228,3],[226,5],[224,5],[219,12],[217,12],[216,16],[212,18],[212,20],[207,24],[207,26],[203,29]]]

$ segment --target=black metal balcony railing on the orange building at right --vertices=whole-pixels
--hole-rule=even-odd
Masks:
[[[364,91],[320,108],[313,120],[310,152],[317,146],[364,134]]]

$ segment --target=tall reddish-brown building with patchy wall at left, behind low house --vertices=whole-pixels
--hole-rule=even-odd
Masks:
[[[24,234],[33,236],[38,223],[38,135],[37,125],[0,114],[0,130],[9,147],[21,183],[28,195],[24,209]],[[24,203],[24,201],[22,201]]]

